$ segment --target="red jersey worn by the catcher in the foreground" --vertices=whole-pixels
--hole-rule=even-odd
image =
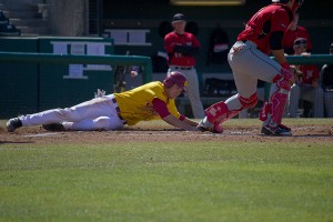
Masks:
[[[260,51],[271,53],[271,32],[286,32],[293,21],[294,13],[282,3],[272,3],[260,9],[246,23],[245,29],[239,34],[238,41],[251,40],[256,43]]]

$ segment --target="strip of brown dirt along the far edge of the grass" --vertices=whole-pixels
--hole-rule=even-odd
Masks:
[[[242,142],[327,142],[333,145],[333,127],[293,127],[292,137],[266,137],[260,133],[259,127],[226,125],[222,134],[210,132],[186,132],[169,125],[128,127],[121,131],[77,131],[49,132],[41,127],[21,128],[8,133],[0,127],[0,144],[6,143],[121,143],[121,142],[195,142],[195,141],[242,141]]]

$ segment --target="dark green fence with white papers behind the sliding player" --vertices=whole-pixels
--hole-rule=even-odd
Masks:
[[[71,107],[97,89],[111,93],[115,65],[141,65],[142,82],[152,79],[150,58],[113,56],[111,39],[4,38],[0,46],[0,119]]]

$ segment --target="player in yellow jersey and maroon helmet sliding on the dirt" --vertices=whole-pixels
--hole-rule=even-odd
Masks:
[[[150,82],[122,93],[102,94],[71,108],[10,119],[7,130],[13,132],[20,127],[40,124],[50,131],[120,130],[124,124],[162,119],[175,128],[195,131],[198,122],[180,114],[174,104],[174,99],[186,87],[185,75],[172,72],[163,82]]]

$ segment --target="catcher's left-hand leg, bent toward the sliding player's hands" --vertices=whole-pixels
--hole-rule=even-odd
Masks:
[[[255,49],[255,46],[246,46],[242,42],[234,44],[229,53],[229,63],[239,93],[229,98],[225,102],[221,101],[208,108],[205,110],[206,117],[199,128],[211,128],[213,123],[222,123],[239,114],[240,111],[253,108],[256,104],[258,73],[262,73],[263,70],[261,70],[262,59],[254,56],[251,51],[252,48]],[[255,51],[259,52],[259,50]]]

